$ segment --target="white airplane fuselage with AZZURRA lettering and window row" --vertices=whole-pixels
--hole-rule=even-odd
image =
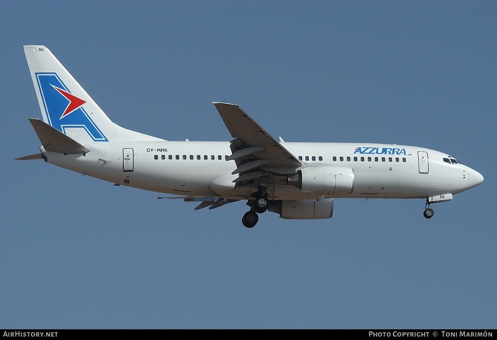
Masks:
[[[294,143],[282,145],[304,164],[327,164],[353,170],[348,194],[304,191],[271,184],[270,199],[426,198],[457,194],[478,185],[483,177],[449,156],[412,146],[368,143]],[[167,194],[247,199],[256,184],[235,188],[235,161],[229,142],[147,141],[87,145],[85,155],[46,152],[48,162],[112,183]],[[422,159],[421,159],[422,158]]]

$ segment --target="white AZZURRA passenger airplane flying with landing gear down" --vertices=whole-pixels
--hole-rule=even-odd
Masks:
[[[483,182],[445,153],[405,145],[274,139],[238,105],[213,102],[231,141],[168,141],[112,122],[45,46],[24,46],[43,119],[29,118],[45,162],[114,185],[175,195],[195,210],[247,201],[242,224],[269,211],[283,219],[329,219],[334,198],[432,203]]]

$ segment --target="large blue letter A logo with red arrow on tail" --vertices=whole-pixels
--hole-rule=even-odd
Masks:
[[[86,103],[69,91],[57,73],[35,73],[48,123],[67,134],[67,129],[83,128],[95,142],[108,142],[102,131],[84,111]]]

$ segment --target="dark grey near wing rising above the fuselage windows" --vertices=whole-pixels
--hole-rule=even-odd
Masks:
[[[235,181],[254,179],[262,176],[267,168],[296,169],[304,164],[277,142],[259,124],[248,116],[238,105],[213,102],[233,138],[232,155],[237,169],[232,174],[240,174]]]

